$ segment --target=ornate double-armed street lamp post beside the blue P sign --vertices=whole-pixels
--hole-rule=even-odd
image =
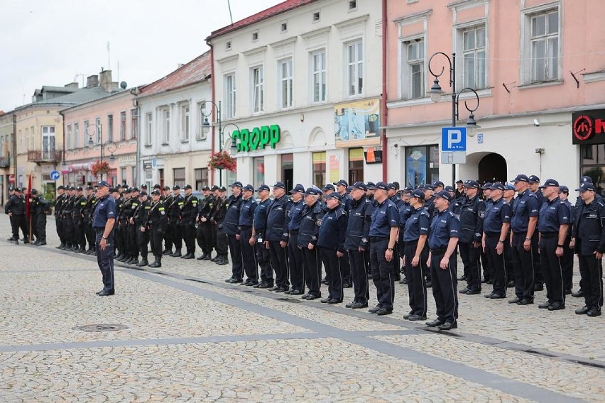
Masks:
[[[474,137],[476,135],[476,131],[479,128],[475,121],[474,111],[479,109],[479,94],[469,87],[464,87],[460,90],[460,92],[456,92],[456,53],[452,53],[452,58],[450,59],[448,55],[443,52],[434,53],[428,63],[429,72],[432,74],[435,79],[433,80],[432,87],[430,87],[430,99],[433,102],[439,102],[441,96],[443,95],[441,86],[439,85],[439,77],[445,72],[446,66],[441,66],[441,71],[438,74],[432,71],[430,67],[430,63],[432,62],[433,57],[437,55],[445,56],[447,62],[449,63],[449,87],[452,88],[452,126],[456,127],[456,121],[459,118],[459,99],[460,95],[464,94],[464,92],[472,92],[476,97],[476,106],[474,108],[469,108],[467,101],[464,101],[464,108],[470,112],[469,118],[467,120],[467,134],[469,137]],[[456,164],[452,164],[452,186],[456,183]]]

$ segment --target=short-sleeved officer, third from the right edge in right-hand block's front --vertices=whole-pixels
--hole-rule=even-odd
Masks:
[[[517,175],[513,180],[518,193],[513,203],[511,218],[511,247],[515,265],[515,299],[509,303],[528,305],[533,304],[534,264],[532,258],[532,238],[537,232],[538,198],[530,189],[527,175]]]

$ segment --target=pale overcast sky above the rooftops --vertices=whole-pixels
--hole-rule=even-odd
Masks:
[[[235,22],[283,0],[230,1]],[[125,81],[129,87],[148,84],[204,53],[209,33],[230,23],[227,0],[1,3],[4,111],[30,103],[34,90],[43,85],[76,81],[82,87],[82,77],[99,74],[101,67],[111,69],[114,81]]]

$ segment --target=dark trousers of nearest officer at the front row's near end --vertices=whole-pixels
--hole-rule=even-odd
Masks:
[[[440,264],[445,250],[446,248],[431,250],[432,296],[437,306],[437,319],[454,323],[458,319],[457,255],[452,253],[447,269],[443,270]]]

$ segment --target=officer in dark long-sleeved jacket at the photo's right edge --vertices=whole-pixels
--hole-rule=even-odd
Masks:
[[[596,200],[596,188],[584,182],[578,189],[583,204],[576,214],[569,245],[578,255],[580,276],[584,282],[584,307],[576,314],[600,316],[603,307],[603,253],[605,253],[605,204]]]

